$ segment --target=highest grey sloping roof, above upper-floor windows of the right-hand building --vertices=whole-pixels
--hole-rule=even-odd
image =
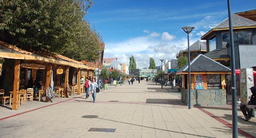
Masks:
[[[256,26],[256,22],[237,14],[232,15],[232,25],[233,27],[241,27],[241,26]],[[223,22],[218,24],[218,26],[214,28],[228,28],[229,27],[229,18],[226,18]]]

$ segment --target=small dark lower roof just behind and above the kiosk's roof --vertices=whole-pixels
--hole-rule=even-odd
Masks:
[[[214,49],[213,51],[206,53],[204,56],[207,56],[212,59],[229,58],[227,48]]]

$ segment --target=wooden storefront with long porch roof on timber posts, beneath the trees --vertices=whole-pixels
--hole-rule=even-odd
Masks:
[[[10,91],[13,91],[13,110],[18,110],[19,90],[33,86],[35,80],[42,81],[46,89],[51,85],[53,76],[55,86],[62,85],[65,91],[67,85],[71,85],[72,82],[73,85],[77,85],[80,94],[81,69],[88,69],[87,65],[68,57],[28,52],[2,41],[0,41],[0,64],[0,89],[4,89],[5,96],[9,96]],[[69,72],[69,69],[72,72]],[[47,100],[48,98],[46,102]]]

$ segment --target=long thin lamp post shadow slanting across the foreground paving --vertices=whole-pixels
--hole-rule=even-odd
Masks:
[[[130,124],[130,125],[138,126],[138,127],[145,127],[145,128],[158,129],[158,130],[161,130],[161,131],[174,132],[174,133],[182,133],[182,134],[191,135],[191,136],[208,137],[208,136],[202,136],[202,135],[195,135],[195,134],[192,134],[192,133],[177,132],[177,131],[171,131],[171,130],[168,130],[168,129],[161,129],[161,128],[155,128],[155,127],[147,127],[147,126],[142,126],[142,125],[138,125],[138,124],[131,124],[131,123],[119,122],[119,121],[110,120],[110,119],[98,118],[97,115],[85,115],[85,117],[82,116],[82,118],[86,118],[86,116],[93,116],[94,118],[97,118],[97,119],[108,120],[108,121],[111,121],[111,122],[117,122],[117,123],[123,123],[123,124]],[[118,128],[117,128],[117,129],[118,129]],[[210,137],[209,137],[209,138],[210,138]]]

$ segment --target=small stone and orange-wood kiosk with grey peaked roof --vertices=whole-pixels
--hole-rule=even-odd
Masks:
[[[191,62],[191,104],[220,106],[226,104],[225,77],[230,74],[226,66],[199,55]],[[176,75],[182,76],[181,101],[188,104],[188,65]]]

